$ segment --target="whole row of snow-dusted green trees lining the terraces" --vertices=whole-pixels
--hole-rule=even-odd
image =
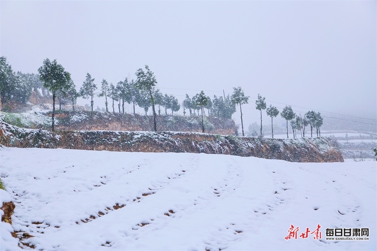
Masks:
[[[164,107],[165,114],[167,109],[174,111],[180,109],[178,99],[173,95],[163,95],[159,89],[155,89],[157,83],[154,73],[145,65],[145,69],[139,68],[135,75],[136,80],[125,79],[119,81],[116,85],[108,83],[106,79],[102,80],[101,91],[96,92],[98,89],[95,84],[95,79],[89,73],[86,74],[86,79],[83,82],[80,90],[77,92],[75,84],[73,83],[69,72],[65,71],[63,66],[58,64],[56,60],[50,61],[48,58],[43,61],[43,65],[38,69],[39,75],[36,74],[22,74],[21,72],[15,73],[12,67],[7,63],[5,57],[0,58],[0,102],[15,100],[20,102],[27,102],[32,92],[32,89],[42,88],[42,92],[52,93],[53,110],[52,110],[52,130],[54,130],[54,114],[55,114],[55,99],[59,101],[59,109],[62,104],[72,103],[74,110],[74,103],[77,97],[81,96],[85,99],[90,98],[91,110],[93,110],[93,98],[97,95],[105,97],[106,111],[109,111],[108,99],[112,100],[113,112],[115,112],[115,102],[118,103],[118,110],[124,113],[125,102],[133,104],[133,111],[135,113],[135,105],[139,105],[147,114],[148,109],[152,106],[153,112],[153,128],[157,131],[156,125],[156,108],[158,105],[158,114],[161,114],[161,106]],[[42,84],[43,83],[43,84]],[[16,100],[20,99],[20,100]],[[240,107],[241,113],[241,127],[242,136],[244,136],[243,117],[242,117],[242,104],[248,103],[249,96],[245,96],[241,87],[234,87],[231,96],[217,97],[211,100],[206,96],[203,91],[190,98],[186,94],[182,102],[183,114],[186,109],[189,110],[190,115],[199,115],[201,110],[202,115],[202,131],[204,128],[204,109],[208,109],[208,115],[212,114],[219,117],[231,118],[232,114],[236,111],[236,105]],[[255,108],[260,110],[260,135],[262,135],[262,110],[266,110],[268,116],[271,117],[271,129],[273,138],[273,117],[279,113],[275,106],[270,105],[267,107],[265,97],[258,94],[255,101]],[[281,111],[280,115],[287,120],[287,138],[288,135],[288,121],[290,121],[294,138],[297,137],[297,131],[300,131],[302,137],[305,137],[305,128],[310,125],[311,136],[313,136],[313,128],[317,129],[317,136],[320,136],[320,127],[323,124],[321,114],[314,111],[308,111],[304,117],[298,116],[291,106],[286,106]]]

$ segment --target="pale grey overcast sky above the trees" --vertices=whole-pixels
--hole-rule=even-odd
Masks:
[[[241,86],[246,128],[258,93],[280,111],[376,117],[375,1],[2,1],[0,49],[15,71],[57,59],[77,89],[86,72],[116,84],[144,65],[180,101]]]

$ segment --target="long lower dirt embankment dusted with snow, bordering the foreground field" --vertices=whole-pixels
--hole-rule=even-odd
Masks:
[[[343,162],[329,138],[259,139],[201,133],[31,130],[1,123],[7,147],[229,154],[291,162]]]

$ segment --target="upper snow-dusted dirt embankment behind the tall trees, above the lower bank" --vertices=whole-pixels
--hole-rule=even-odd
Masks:
[[[51,116],[51,113],[47,113]],[[97,111],[58,111],[56,130],[60,131],[153,131],[153,116]],[[201,116],[157,115],[157,130],[177,132],[202,132]],[[235,135],[236,125],[232,119],[205,117],[205,133]]]

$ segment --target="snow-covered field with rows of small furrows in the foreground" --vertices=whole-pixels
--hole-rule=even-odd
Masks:
[[[374,161],[18,148],[0,159],[2,201],[36,250],[376,249]],[[369,239],[326,240],[326,228]],[[18,249],[1,229],[2,250]]]

